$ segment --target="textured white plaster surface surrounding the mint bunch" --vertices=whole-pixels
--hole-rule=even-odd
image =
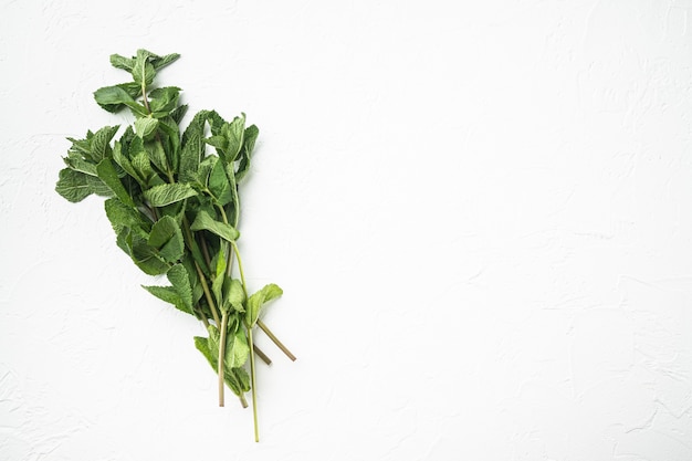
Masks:
[[[692,1],[0,1],[0,459],[692,459]],[[248,114],[296,353],[217,407],[66,136],[108,55]]]

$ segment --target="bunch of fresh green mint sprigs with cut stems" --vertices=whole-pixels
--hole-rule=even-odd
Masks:
[[[55,190],[72,202],[92,193],[107,197],[117,245],[143,272],[165,274],[170,283],[144,289],[206,327],[208,336],[196,336],[195,346],[218,374],[219,406],[224,385],[243,407],[252,391],[259,441],[254,356],[271,360],[254,345],[255,326],[295,360],[260,319],[262,307],[283,291],[272,283],[250,295],[238,248],[238,185],[259,130],[245,126],[244,114],[227,122],[214,111],[198,112],[181,130],[187,105],[179,104],[180,88],[154,86],[157,72],[178,57],[146,50],[111,56],[133,81],[98,88],[94,97],[112,113],[128,108],[135,121],[117,140],[119,126],[67,138],[72,146]]]

